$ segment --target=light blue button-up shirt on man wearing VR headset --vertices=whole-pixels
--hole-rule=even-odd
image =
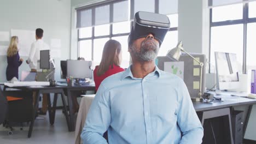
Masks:
[[[98,88],[81,137],[83,143],[201,143],[203,128],[185,83],[155,70],[144,79],[131,69],[107,77]]]

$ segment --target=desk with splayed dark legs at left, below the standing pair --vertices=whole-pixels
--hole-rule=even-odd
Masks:
[[[3,91],[6,91],[8,87],[4,86]],[[50,124],[54,124],[55,120],[55,110],[56,110],[56,103],[57,103],[57,94],[61,94],[62,103],[64,105],[64,112],[66,116],[66,121],[68,125],[68,130],[71,131],[70,127],[70,121],[67,114],[67,106],[66,101],[64,99],[65,94],[63,92],[63,88],[66,88],[65,86],[55,86],[55,87],[11,87],[15,89],[21,89],[22,91],[30,91],[30,92],[36,92],[36,104],[33,106],[33,112],[32,112],[32,121],[30,123],[30,128],[28,130],[28,137],[31,137],[33,125],[34,125],[34,119],[36,118],[37,110],[38,110],[38,103],[39,103],[39,97],[40,94],[48,93],[48,113],[49,113],[49,119]],[[53,101],[53,107],[51,107],[51,101],[50,101],[50,93],[54,93],[54,101]]]

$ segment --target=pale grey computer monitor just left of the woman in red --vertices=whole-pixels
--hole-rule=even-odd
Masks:
[[[67,77],[74,79],[92,78],[91,61],[67,60]]]

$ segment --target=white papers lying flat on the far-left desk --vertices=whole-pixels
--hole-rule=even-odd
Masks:
[[[26,87],[26,86],[50,86],[49,81],[15,81],[13,83],[5,82],[8,87]]]

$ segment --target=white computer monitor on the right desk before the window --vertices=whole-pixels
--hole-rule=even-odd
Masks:
[[[239,87],[235,53],[215,52],[217,88],[219,90]]]

